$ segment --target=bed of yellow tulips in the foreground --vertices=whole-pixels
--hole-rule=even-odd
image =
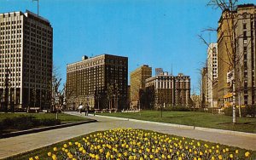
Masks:
[[[142,129],[87,134],[45,153],[49,159],[250,159],[250,152]],[[39,159],[40,157],[31,157]]]

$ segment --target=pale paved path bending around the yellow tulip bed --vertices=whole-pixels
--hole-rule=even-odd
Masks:
[[[77,112],[68,113],[80,116]],[[98,122],[81,124],[63,129],[53,129],[35,134],[25,134],[7,139],[0,139],[0,159],[14,156],[25,151],[32,151],[42,146],[49,146],[56,142],[71,139],[82,134],[116,128],[149,129],[160,133],[176,134],[197,140],[207,140],[228,146],[238,146],[247,150],[256,151],[256,138],[252,137],[231,134],[217,134],[195,129],[180,129],[154,123],[131,122],[109,117],[89,117],[91,119],[96,119]]]

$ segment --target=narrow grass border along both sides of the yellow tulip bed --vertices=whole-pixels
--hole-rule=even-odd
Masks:
[[[141,129],[141,130],[144,130],[144,129]],[[148,131],[148,132],[151,132],[151,133],[154,132],[154,131],[150,131],[150,130],[144,130],[144,131]],[[102,133],[102,132],[103,131],[96,131],[96,132],[93,132],[93,133],[90,133],[90,134],[84,134],[84,135],[81,135],[79,137],[75,137],[75,138],[70,139],[70,140],[64,140],[64,141],[61,141],[59,143],[55,143],[55,144],[50,145],[50,146],[44,146],[42,148],[38,148],[38,149],[33,150],[33,151],[27,151],[25,153],[21,153],[19,155],[13,156],[13,157],[8,157],[8,158],[5,158],[3,160],[12,160],[12,159],[23,160],[23,159],[29,159],[30,157],[36,157],[36,156],[38,156],[39,159],[51,159],[47,156],[47,153],[48,152],[54,152],[53,151],[54,147],[56,147],[58,149],[58,151],[60,151],[61,148],[63,148],[63,145],[68,144],[69,142],[72,142],[73,145],[74,145],[75,142],[79,142],[82,145],[84,145],[84,140],[83,140],[84,137],[87,137],[87,136],[89,137],[90,135],[94,135],[94,134]],[[179,140],[182,139],[182,137],[172,135],[172,134],[162,134],[162,133],[158,133],[158,132],[155,132],[155,133],[160,134],[160,135],[167,135],[168,137],[174,137],[174,138],[177,138]],[[195,139],[186,138],[186,140],[192,141],[192,140],[195,140]],[[235,152],[236,150],[239,150],[239,155],[240,156],[244,156],[244,153],[246,151],[249,151],[249,150],[241,149],[241,148],[235,147],[235,146],[225,146],[225,145],[221,145],[221,144],[218,144],[218,143],[212,143],[212,142],[203,141],[203,140],[195,140],[195,141],[200,142],[201,144],[207,144],[210,148],[212,146],[217,146],[218,145],[219,146],[219,151],[222,151],[222,149],[224,149],[224,148],[229,148],[230,152]],[[108,142],[106,142],[106,144],[108,144]],[[250,152],[250,155],[251,155],[250,158],[255,159],[256,158],[256,151],[249,151],[249,152]]]

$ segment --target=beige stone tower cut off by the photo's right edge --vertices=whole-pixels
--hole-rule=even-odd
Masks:
[[[256,5],[236,9],[236,105],[256,105]]]

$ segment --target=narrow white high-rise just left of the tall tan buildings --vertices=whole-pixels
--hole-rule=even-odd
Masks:
[[[218,45],[210,43],[207,49],[207,102],[208,107],[216,107],[217,101],[213,99],[213,83],[218,79]],[[215,105],[215,106],[214,106]]]

